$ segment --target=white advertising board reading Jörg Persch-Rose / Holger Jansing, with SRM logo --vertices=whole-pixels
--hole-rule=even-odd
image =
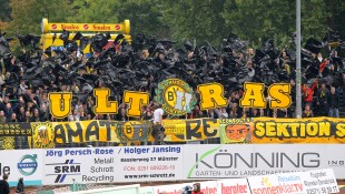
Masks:
[[[175,181],[183,146],[53,149],[45,151],[45,184]]]

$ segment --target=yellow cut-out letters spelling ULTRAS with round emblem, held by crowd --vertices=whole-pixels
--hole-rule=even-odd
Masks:
[[[270,109],[285,109],[292,103],[289,95],[290,85],[286,83],[274,83],[268,89],[270,96],[269,103],[266,103],[264,98],[265,85],[260,83],[245,83],[244,94],[239,105],[241,108],[266,108],[269,104]],[[197,91],[200,98],[200,110],[209,110],[227,106],[227,100],[224,96],[224,86],[219,83],[205,83],[197,85]],[[155,100],[162,104],[162,109],[170,115],[184,115],[190,113],[196,103],[197,98],[193,88],[185,81],[179,79],[164,80],[155,90]],[[96,99],[96,114],[116,114],[118,102],[110,101],[110,90],[106,88],[93,89]],[[152,96],[151,96],[152,98]],[[70,92],[50,92],[50,113],[55,118],[63,119],[70,114],[72,93]],[[128,116],[140,116],[141,108],[148,105],[149,93],[138,91],[125,91],[122,103],[128,104],[130,109],[127,111]]]

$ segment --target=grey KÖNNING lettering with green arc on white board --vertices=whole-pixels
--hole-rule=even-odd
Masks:
[[[265,170],[284,169],[287,166],[293,166],[297,170],[319,167],[321,165],[321,155],[315,152],[270,152],[263,154],[259,152],[230,152],[220,147],[221,145],[205,153],[195,153],[196,162],[189,170],[187,177],[226,177],[227,174],[221,172],[227,170]],[[210,176],[210,174],[213,175]]]

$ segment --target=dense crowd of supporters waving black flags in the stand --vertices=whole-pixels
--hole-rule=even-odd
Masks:
[[[224,40],[220,49],[211,44],[195,47],[189,41],[180,48],[167,39],[139,33],[132,42],[119,34],[109,47],[109,34],[91,38],[63,31],[57,39],[63,47],[38,49],[39,37],[17,37],[20,54],[13,55],[2,33],[0,38],[0,122],[57,121],[49,112],[49,92],[72,92],[72,111],[65,121],[82,120],[138,120],[126,115],[126,104],[120,104],[117,115],[93,113],[93,88],[109,88],[110,100],[121,102],[125,90],[150,94],[150,104],[142,108],[142,120],[152,119],[157,106],[155,89],[160,81],[178,78],[197,91],[197,84],[218,82],[224,85],[228,105],[221,109],[195,110],[180,119],[243,116],[293,118],[295,108],[296,54],[295,41],[277,49],[272,40],[253,49],[248,41],[235,34]],[[80,40],[80,43],[77,43]],[[90,55],[82,51],[90,45]],[[106,47],[107,45],[107,47]],[[339,116],[344,105],[345,70],[337,51],[344,42],[329,31],[323,41],[308,39],[302,51],[303,116]],[[322,53],[325,53],[324,55]],[[239,99],[244,82],[292,84],[293,104],[289,109],[241,109]],[[269,101],[269,98],[267,98]],[[166,115],[169,116],[169,115]],[[61,120],[59,120],[61,121]]]

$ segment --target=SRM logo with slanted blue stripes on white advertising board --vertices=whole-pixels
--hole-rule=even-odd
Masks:
[[[80,175],[80,163],[75,163],[75,160],[66,160],[65,163],[52,163],[46,164],[52,165],[52,174],[47,174],[47,176],[57,176],[55,183],[63,183],[67,175]]]

